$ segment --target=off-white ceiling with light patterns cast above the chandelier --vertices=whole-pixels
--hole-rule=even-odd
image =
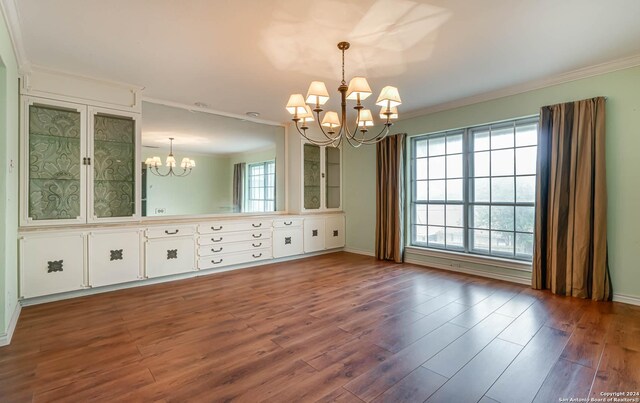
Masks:
[[[276,122],[310,81],[337,89],[341,40],[347,80],[397,86],[401,117],[640,54],[638,0],[10,1],[32,64]]]

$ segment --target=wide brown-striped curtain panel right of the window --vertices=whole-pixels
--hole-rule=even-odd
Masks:
[[[611,299],[603,97],[541,109],[536,180],[533,288]]]

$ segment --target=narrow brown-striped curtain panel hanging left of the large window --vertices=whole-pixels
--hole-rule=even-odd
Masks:
[[[376,257],[403,261],[405,137],[388,136],[376,144]]]

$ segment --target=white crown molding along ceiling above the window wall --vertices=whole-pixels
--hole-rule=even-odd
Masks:
[[[583,78],[598,76],[600,74],[611,73],[614,71],[624,70],[636,66],[640,66],[640,54],[596,64],[589,67],[583,67],[539,80],[528,81],[523,84],[512,85],[495,91],[489,91],[482,94],[472,95],[470,97],[460,98],[454,101],[429,106],[427,108],[406,113],[399,121],[408,120],[418,116],[430,115],[432,113],[442,112],[450,109],[461,108],[463,106],[473,105],[480,102],[493,101],[499,98],[522,94],[529,91],[539,90],[558,84],[568,83],[570,81],[581,80]]]

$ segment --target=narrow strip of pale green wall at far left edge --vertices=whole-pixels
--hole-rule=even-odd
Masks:
[[[18,105],[18,63],[0,18],[0,336],[18,303]]]

